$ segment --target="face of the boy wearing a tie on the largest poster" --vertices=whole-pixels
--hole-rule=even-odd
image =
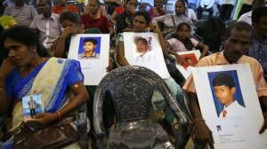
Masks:
[[[229,106],[234,101],[234,94],[236,88],[232,87],[231,89],[228,86],[214,86],[214,92],[216,97],[224,106]]]

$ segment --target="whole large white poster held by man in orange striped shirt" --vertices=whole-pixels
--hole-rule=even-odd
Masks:
[[[194,67],[198,103],[214,148],[266,148],[267,132],[249,64]]]

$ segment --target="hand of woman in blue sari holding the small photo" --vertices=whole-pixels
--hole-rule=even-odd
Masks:
[[[47,125],[51,122],[54,122],[56,120],[58,120],[59,117],[57,114],[51,114],[51,113],[44,113],[44,114],[36,114],[36,116],[34,117],[34,119],[32,120],[28,120],[28,122],[38,122],[42,125]]]

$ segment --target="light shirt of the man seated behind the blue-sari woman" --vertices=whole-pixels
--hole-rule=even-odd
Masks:
[[[40,42],[44,44],[44,47],[50,48],[53,41],[61,34],[60,15],[52,12],[48,20],[46,20],[44,14],[37,15],[30,27],[39,31]]]

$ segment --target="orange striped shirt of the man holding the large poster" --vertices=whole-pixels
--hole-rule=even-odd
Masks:
[[[263,77],[263,67],[256,59],[247,57],[245,55],[242,56],[239,61],[236,62],[236,64],[246,63],[250,65],[258,97],[267,96],[267,85]],[[223,56],[223,51],[214,53],[212,55],[206,56],[203,59],[200,59],[198,61],[197,67],[209,67],[216,65],[229,65],[229,62]],[[193,75],[189,76],[187,81],[184,83],[182,90],[196,93]]]

